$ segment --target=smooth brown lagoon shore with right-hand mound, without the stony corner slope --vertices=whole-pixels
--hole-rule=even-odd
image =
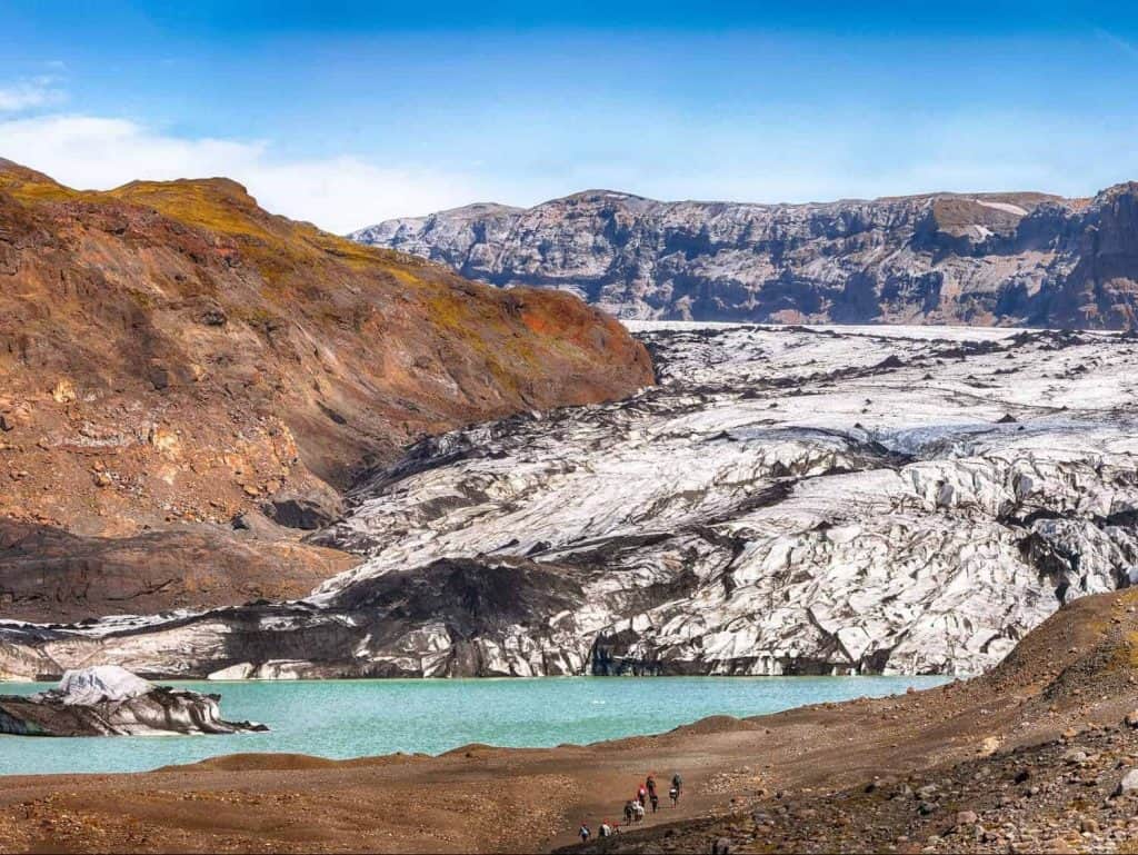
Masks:
[[[934,689],[754,718],[704,718],[592,746],[330,762],[237,755],[162,772],[0,779],[0,847],[81,852],[533,852],[613,821],[644,775],[684,776],[657,821],[982,762],[1133,706],[1138,590],[1075,600],[995,671]],[[44,825],[43,823],[48,823]],[[48,828],[49,831],[44,831]],[[634,835],[622,837],[633,841]],[[3,850],[0,848],[0,850]]]

